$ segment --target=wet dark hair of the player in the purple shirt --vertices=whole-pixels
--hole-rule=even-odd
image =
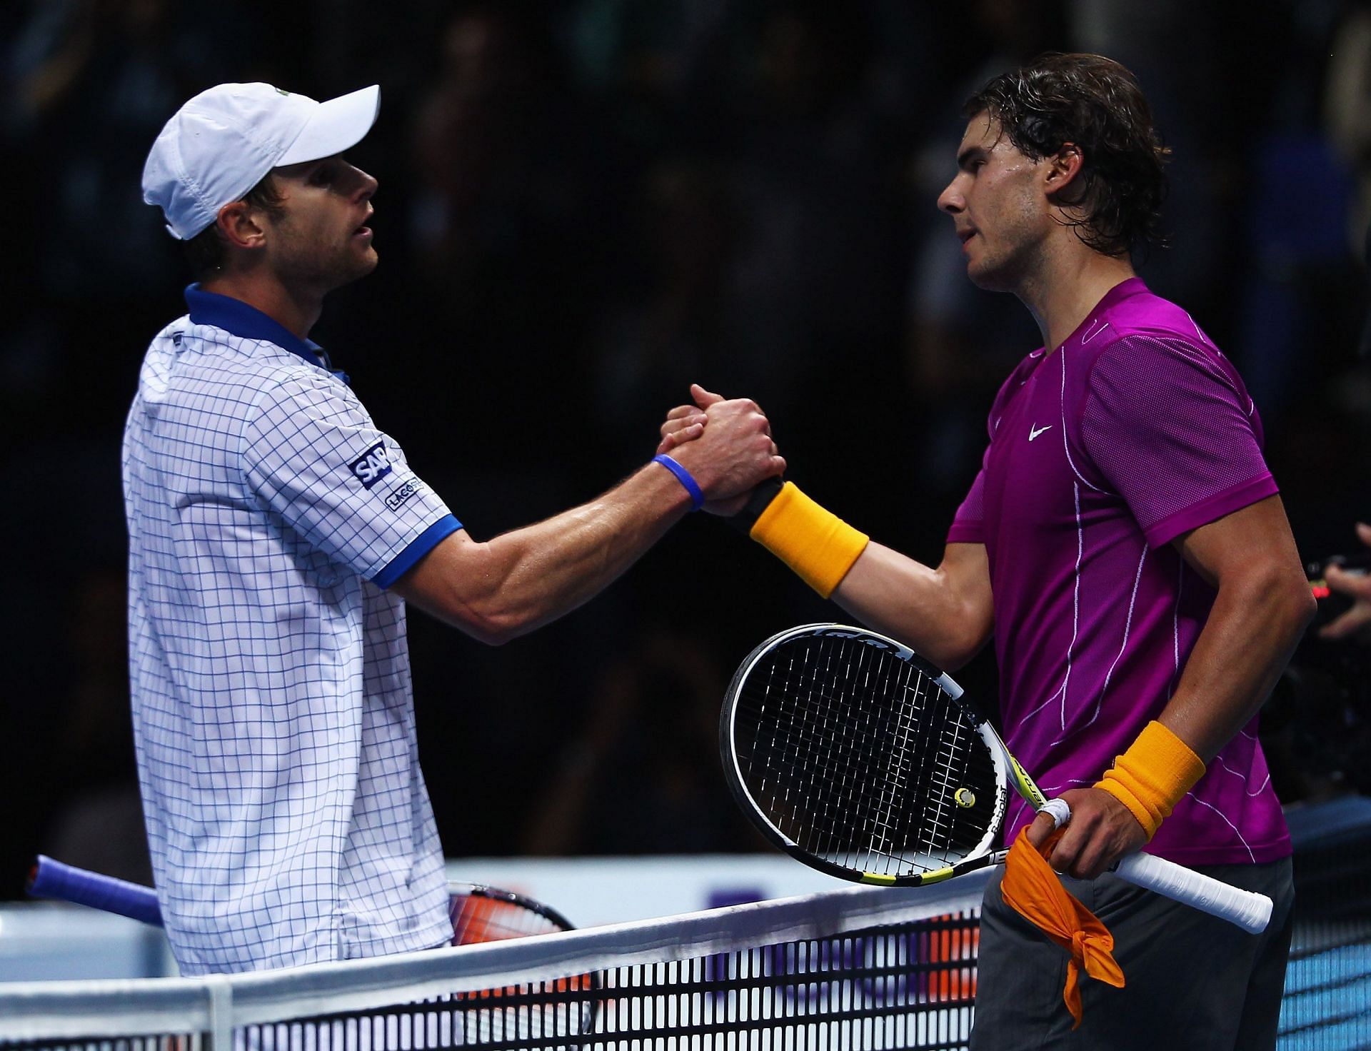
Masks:
[[[999,121],[1031,160],[1053,156],[1067,143],[1080,148],[1080,174],[1060,201],[1079,217],[1071,225],[1083,244],[1111,256],[1165,245],[1161,204],[1171,151],[1137,78],[1120,63],[1047,52],[995,77],[961,112]]]

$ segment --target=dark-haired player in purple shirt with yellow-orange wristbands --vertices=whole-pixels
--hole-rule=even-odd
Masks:
[[[792,482],[762,486],[750,532],[947,669],[994,637],[1009,748],[1071,804],[1050,861],[1112,930],[1127,984],[1083,982],[1072,1030],[1067,955],[1005,906],[997,876],[975,1048],[1270,1048],[1293,888],[1256,714],[1313,599],[1261,423],[1196,321],[1134,273],[1168,151],[1132,75],[1045,55],[962,112],[938,206],[968,277],[1016,295],[1043,345],[991,407],[941,565],[871,543]],[[696,400],[668,415],[664,447],[696,433],[710,399]],[[1010,836],[1034,819],[1023,804],[1009,818]],[[1050,832],[1045,815],[1030,839]],[[1246,935],[1109,874],[1141,848],[1270,895],[1270,928]]]

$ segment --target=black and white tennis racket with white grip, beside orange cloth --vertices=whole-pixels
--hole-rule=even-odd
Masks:
[[[720,751],[764,836],[856,882],[919,887],[998,865],[1009,785],[1034,810],[1047,803],[950,676],[894,639],[836,623],[791,628],[747,655]],[[1115,871],[1252,933],[1271,919],[1265,895],[1150,854]]]

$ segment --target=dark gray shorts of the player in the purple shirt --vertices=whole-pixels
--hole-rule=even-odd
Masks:
[[[1124,988],[1080,976],[1084,1019],[1071,1030],[1061,998],[1067,951],[1005,904],[997,871],[980,915],[972,1051],[1264,1051],[1276,1046],[1290,951],[1290,859],[1208,865],[1197,871],[1275,903],[1260,935],[1127,884],[1064,878],[1115,937]]]

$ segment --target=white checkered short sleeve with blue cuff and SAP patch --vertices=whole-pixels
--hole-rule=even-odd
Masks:
[[[258,500],[332,560],[389,586],[461,529],[347,388],[291,375],[269,388],[243,434]]]

